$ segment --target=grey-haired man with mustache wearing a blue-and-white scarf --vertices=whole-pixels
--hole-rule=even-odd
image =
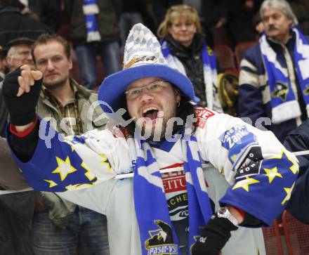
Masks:
[[[239,116],[283,142],[308,117],[308,37],[287,1],[263,1],[260,14],[265,32],[240,66]]]

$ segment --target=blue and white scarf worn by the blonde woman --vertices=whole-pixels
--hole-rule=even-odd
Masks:
[[[185,67],[180,60],[171,53],[166,40],[162,39],[160,43],[162,44],[162,53],[164,58],[166,58],[167,63],[169,63],[172,68],[178,70],[182,74],[187,75],[185,73]],[[223,112],[221,104],[218,100],[218,93],[216,89],[218,88],[216,56],[214,54],[209,54],[206,44],[203,44],[202,46],[202,62],[207,107],[217,112]]]

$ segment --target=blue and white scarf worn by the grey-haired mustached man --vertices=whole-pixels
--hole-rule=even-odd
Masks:
[[[296,74],[306,110],[309,113],[309,44],[303,34],[293,28],[296,35],[294,46],[294,63]],[[301,107],[294,91],[291,89],[291,81],[287,69],[280,65],[277,60],[277,53],[272,49],[266,39],[266,35],[260,39],[261,53],[265,70],[268,74],[270,86],[270,102],[272,105],[272,123],[280,124],[289,119],[301,116]]]

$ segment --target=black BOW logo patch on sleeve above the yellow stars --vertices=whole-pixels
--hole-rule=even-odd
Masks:
[[[235,180],[252,176],[260,173],[261,160],[263,159],[262,150],[260,146],[254,146],[244,158],[241,166],[237,169]]]

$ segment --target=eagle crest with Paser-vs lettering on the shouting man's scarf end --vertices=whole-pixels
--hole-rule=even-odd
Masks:
[[[147,255],[171,255],[178,254],[178,245],[173,242],[171,226],[164,221],[155,221],[159,227],[157,230],[150,230],[150,238],[145,241]]]

